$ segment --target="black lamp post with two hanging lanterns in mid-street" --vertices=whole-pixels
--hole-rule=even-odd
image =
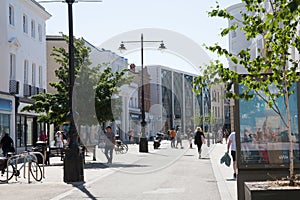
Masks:
[[[166,49],[163,41],[144,41],[143,34],[141,34],[140,41],[122,41],[119,50],[126,50],[124,43],[141,43],[141,68],[142,68],[142,121],[141,121],[141,138],[139,143],[139,152],[148,152],[148,140],[145,133],[146,120],[145,120],[145,89],[144,89],[144,42],[160,42],[159,49]]]

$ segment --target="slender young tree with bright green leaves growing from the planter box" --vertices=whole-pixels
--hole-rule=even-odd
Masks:
[[[250,100],[259,96],[266,105],[280,116],[282,123],[288,130],[289,155],[290,155],[290,185],[295,184],[293,141],[291,133],[290,96],[295,93],[294,83],[299,82],[297,73],[299,60],[292,51],[299,52],[300,36],[299,30],[300,9],[299,0],[242,0],[246,12],[241,12],[242,21],[225,28],[221,36],[227,36],[230,31],[242,30],[248,40],[261,37],[263,47],[258,49],[260,55],[253,57],[250,49],[242,49],[234,54],[216,44],[207,47],[220,56],[226,56],[235,65],[244,67],[245,74],[238,74],[226,68],[220,61],[214,61],[200,76],[195,85],[206,86],[204,80],[214,77],[227,84],[226,96],[235,99]],[[268,9],[266,7],[268,5]],[[209,12],[210,17],[221,17],[233,20],[234,16],[221,9],[219,5]],[[231,90],[237,84],[242,86],[239,94]],[[198,91],[199,92],[199,91]],[[284,100],[284,111],[278,107],[279,99]]]

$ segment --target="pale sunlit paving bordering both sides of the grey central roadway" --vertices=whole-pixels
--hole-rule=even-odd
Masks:
[[[163,141],[162,148],[169,148],[169,141]],[[187,141],[184,142],[187,147]],[[188,150],[188,149],[187,149]],[[156,150],[157,151],[157,150]],[[224,164],[220,164],[220,158],[226,151],[226,144],[213,144],[210,147],[203,146],[203,159],[209,159],[213,169],[215,179],[218,185],[219,193],[222,200],[236,200],[237,186],[236,181],[232,180],[232,168]],[[152,143],[149,143],[149,152],[154,152]],[[138,145],[129,145],[127,156],[115,155],[114,162],[118,163],[134,163],[141,158],[138,152]],[[91,185],[96,180],[106,177],[115,171],[107,167],[105,157],[100,149],[96,151],[97,161],[92,161],[92,155],[86,157],[86,165],[84,170],[85,185]],[[28,183],[27,179],[19,178],[17,181],[10,181],[9,184],[0,184],[0,196],[3,199],[63,199],[63,195],[67,195],[72,190],[78,189],[74,187],[81,183],[66,184],[63,182],[63,165],[60,158],[51,158],[51,166],[45,167],[46,178],[42,182]],[[210,167],[208,165],[208,167]]]

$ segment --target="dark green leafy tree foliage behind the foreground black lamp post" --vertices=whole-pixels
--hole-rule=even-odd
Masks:
[[[63,35],[68,43],[68,37]],[[110,101],[112,92],[117,94],[118,83],[130,80],[125,77],[127,69],[121,72],[113,73],[111,68],[105,64],[99,64],[91,67],[89,60],[90,48],[85,45],[85,40],[74,39],[74,56],[75,56],[75,83],[73,92],[74,111],[79,115],[74,115],[78,125],[96,125],[99,122],[112,120]],[[67,113],[69,112],[69,82],[68,82],[68,52],[65,48],[54,48],[51,56],[59,64],[55,70],[58,82],[49,83],[56,89],[56,93],[41,93],[32,96],[34,100],[32,105],[23,108],[26,111],[35,111],[39,113],[39,122],[60,125],[66,122]],[[102,68],[105,68],[102,70]],[[103,90],[103,93],[97,91]],[[107,92],[108,91],[108,92]],[[121,104],[121,102],[119,102]],[[99,109],[105,105],[105,112]],[[103,104],[103,105],[102,105]],[[120,105],[119,104],[119,105]],[[101,107],[100,106],[100,107]],[[120,109],[117,110],[120,112]],[[100,114],[101,113],[101,114]],[[107,114],[107,115],[106,115]],[[98,116],[102,116],[99,118]],[[120,113],[117,113],[120,115]]]

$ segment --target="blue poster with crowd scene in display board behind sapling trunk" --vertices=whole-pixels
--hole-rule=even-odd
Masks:
[[[242,86],[240,86],[241,90]],[[295,91],[289,97],[293,157],[295,163],[300,163],[297,84],[293,84],[291,90]],[[268,104],[258,95],[249,101],[240,99],[239,104],[242,164],[265,166],[267,164],[289,163],[288,129],[281,116],[269,108]],[[276,106],[286,121],[283,97],[276,99]]]

